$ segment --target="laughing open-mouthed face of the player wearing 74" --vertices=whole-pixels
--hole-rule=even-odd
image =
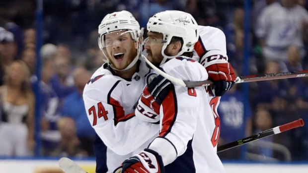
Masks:
[[[137,56],[137,42],[127,31],[106,34],[103,42],[103,52],[116,69],[126,68]]]

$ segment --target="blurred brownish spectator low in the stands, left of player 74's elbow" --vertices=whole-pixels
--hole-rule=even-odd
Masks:
[[[80,141],[76,135],[74,119],[62,116],[58,121],[58,128],[61,132],[61,154],[62,157],[85,157],[87,153],[80,148]]]

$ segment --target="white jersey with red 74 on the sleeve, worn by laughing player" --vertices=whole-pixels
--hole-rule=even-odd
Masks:
[[[133,152],[159,131],[158,124],[134,114],[134,105],[145,85],[145,75],[126,81],[101,67],[84,88],[85,110],[92,127],[104,144],[119,155]]]

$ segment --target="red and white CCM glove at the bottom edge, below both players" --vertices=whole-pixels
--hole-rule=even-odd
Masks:
[[[161,156],[146,148],[139,154],[126,159],[113,173],[164,173]]]

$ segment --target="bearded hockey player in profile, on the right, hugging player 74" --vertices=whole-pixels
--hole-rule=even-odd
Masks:
[[[150,74],[135,114],[145,121],[159,122],[159,135],[144,151],[126,159],[114,173],[224,173],[217,156],[219,97],[212,99],[209,91],[220,96],[232,86],[235,76],[227,56],[219,51],[205,52],[204,45],[199,43],[203,53],[201,48],[195,53],[199,53],[200,62],[208,72],[192,59],[199,28],[188,13],[156,13],[149,19],[147,29],[147,58],[162,71],[188,81],[207,80],[211,74],[225,82],[216,82],[214,90],[185,88]]]

